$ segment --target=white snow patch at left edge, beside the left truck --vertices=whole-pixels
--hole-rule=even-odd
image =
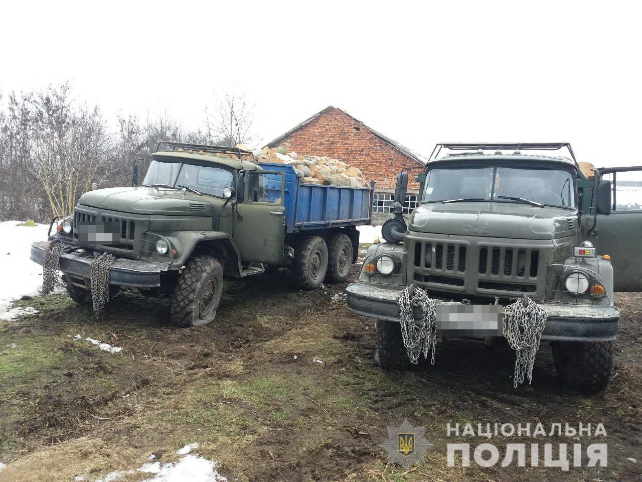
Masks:
[[[31,243],[46,241],[48,224],[17,226],[21,221],[0,222],[0,314],[14,299],[35,296],[42,287],[42,267],[29,259]]]

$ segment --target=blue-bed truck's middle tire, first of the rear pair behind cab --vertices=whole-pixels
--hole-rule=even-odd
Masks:
[[[320,236],[300,240],[292,263],[292,280],[299,289],[317,289],[327,271],[327,246]]]

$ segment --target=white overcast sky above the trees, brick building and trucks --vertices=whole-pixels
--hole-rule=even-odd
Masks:
[[[167,108],[189,127],[234,88],[258,141],[334,105],[425,156],[570,141],[580,160],[642,165],[634,2],[8,3],[3,93],[70,80],[108,116]]]

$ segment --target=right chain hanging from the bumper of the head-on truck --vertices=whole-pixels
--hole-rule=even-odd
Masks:
[[[517,355],[514,388],[523,384],[525,377],[529,385],[532,382],[535,353],[539,350],[547,316],[546,310],[526,295],[504,307],[503,335]]]

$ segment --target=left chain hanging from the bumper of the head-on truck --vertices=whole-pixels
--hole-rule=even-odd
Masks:
[[[417,303],[421,305],[421,323],[415,325],[412,307]],[[411,363],[417,363],[419,355],[424,353],[428,358],[431,352],[430,362],[435,364],[435,345],[437,344],[437,314],[435,312],[435,301],[428,297],[428,293],[419,287],[415,287],[412,298],[410,289],[406,288],[397,296],[399,305],[399,321],[401,321],[401,337],[406,347],[408,358]]]

